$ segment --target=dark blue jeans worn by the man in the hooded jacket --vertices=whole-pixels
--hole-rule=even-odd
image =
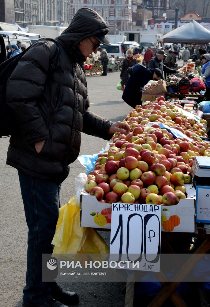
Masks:
[[[28,225],[28,250],[24,304],[40,305],[51,299],[50,283],[42,282],[42,254],[51,254],[59,215],[61,185],[18,171]]]

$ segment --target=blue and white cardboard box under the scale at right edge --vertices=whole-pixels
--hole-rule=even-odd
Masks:
[[[196,188],[196,221],[210,223],[210,186],[199,185],[195,182]]]

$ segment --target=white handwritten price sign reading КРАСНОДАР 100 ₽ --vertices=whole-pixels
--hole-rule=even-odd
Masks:
[[[129,269],[160,270],[161,206],[112,204],[110,261]]]

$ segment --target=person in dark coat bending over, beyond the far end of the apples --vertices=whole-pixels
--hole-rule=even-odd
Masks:
[[[132,69],[133,68],[133,69]],[[162,76],[160,69],[146,68],[141,64],[136,64],[128,69],[131,75],[127,81],[122,99],[135,108],[137,104],[141,104],[142,88],[148,83],[149,80],[158,79]]]

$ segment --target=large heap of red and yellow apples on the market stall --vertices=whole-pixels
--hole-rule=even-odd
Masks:
[[[180,106],[179,106],[180,107]],[[195,156],[210,157],[210,144],[201,123],[178,112],[164,97],[137,105],[124,119],[127,135],[115,133],[110,148],[100,153],[88,174],[85,190],[102,203],[176,205],[186,198]],[[147,122],[154,122],[146,127]],[[159,122],[180,130],[191,141],[175,138]]]

